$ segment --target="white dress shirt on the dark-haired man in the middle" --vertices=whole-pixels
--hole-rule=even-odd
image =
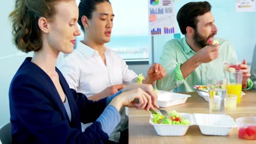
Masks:
[[[87,97],[105,88],[131,82],[137,75],[128,69],[124,59],[106,47],[106,65],[94,49],[79,41],[77,49],[66,56],[57,66],[64,75],[70,88]]]

